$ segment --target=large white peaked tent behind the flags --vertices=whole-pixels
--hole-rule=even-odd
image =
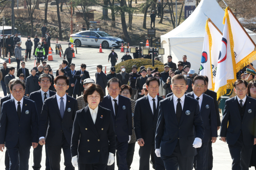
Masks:
[[[182,56],[187,55],[191,68],[198,70],[201,63],[206,16],[223,31],[224,10],[216,0],[201,0],[196,10],[182,24],[172,31],[161,35],[161,46],[164,48],[163,63],[167,62],[167,56],[172,55],[172,61],[182,61]],[[256,33],[246,29],[250,37],[256,42]],[[197,71],[196,71],[197,72]]]

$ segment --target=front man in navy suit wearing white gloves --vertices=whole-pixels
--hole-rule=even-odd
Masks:
[[[184,76],[177,74],[171,81],[173,95],[159,105],[155,153],[166,170],[192,170],[196,148],[204,137],[200,107],[196,99],[184,95],[188,89]]]

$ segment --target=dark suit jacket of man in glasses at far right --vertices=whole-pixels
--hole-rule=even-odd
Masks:
[[[244,117],[241,119],[237,96],[226,100],[220,126],[220,136],[226,137],[228,145],[234,145],[241,132],[243,133],[244,145],[253,145],[254,138],[256,138],[255,103],[255,99],[246,97]]]

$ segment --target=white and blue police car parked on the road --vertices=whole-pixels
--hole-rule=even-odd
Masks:
[[[107,49],[109,47],[119,48],[124,43],[124,40],[118,37],[112,37],[104,31],[81,31],[75,34],[70,35],[70,43],[76,44],[77,47],[81,45],[87,46],[98,46],[100,44],[102,48]]]

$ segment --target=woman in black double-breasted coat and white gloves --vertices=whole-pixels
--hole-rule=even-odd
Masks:
[[[106,170],[114,163],[116,133],[111,111],[98,106],[103,98],[102,88],[89,84],[84,91],[88,106],[76,111],[71,156],[73,166],[79,170]]]

